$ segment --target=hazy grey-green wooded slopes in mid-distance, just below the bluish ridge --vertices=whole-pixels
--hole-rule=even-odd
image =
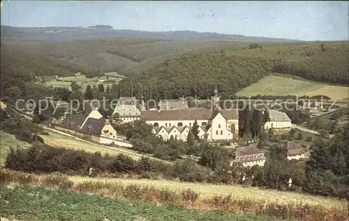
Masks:
[[[232,42],[175,42],[149,38],[108,38],[99,40],[74,40],[69,42],[1,40],[2,45],[20,49],[27,54],[60,59],[90,70],[117,71],[133,75],[141,70],[176,59],[181,54],[225,52],[248,48],[248,43]],[[268,43],[284,45],[284,43]]]

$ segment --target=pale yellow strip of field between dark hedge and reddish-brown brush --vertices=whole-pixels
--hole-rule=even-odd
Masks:
[[[155,188],[168,188],[180,192],[190,188],[199,192],[201,197],[212,197],[214,195],[232,195],[239,199],[266,200],[278,203],[302,202],[304,204],[342,207],[346,206],[346,201],[334,198],[318,197],[312,195],[302,195],[296,192],[281,192],[277,190],[261,190],[253,187],[243,187],[241,185],[212,185],[205,183],[185,183],[167,180],[148,179],[125,179],[125,178],[89,178],[83,176],[69,176],[70,181],[82,183],[84,181],[116,182],[124,185],[152,185]]]

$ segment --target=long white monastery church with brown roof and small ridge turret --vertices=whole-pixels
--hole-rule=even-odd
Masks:
[[[186,141],[188,132],[195,120],[199,125],[200,138],[230,140],[238,137],[239,112],[237,109],[221,109],[217,90],[211,97],[211,109],[174,109],[141,111],[140,119],[153,125],[153,133],[164,140],[181,139]]]

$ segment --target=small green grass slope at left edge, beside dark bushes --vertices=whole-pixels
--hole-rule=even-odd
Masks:
[[[10,135],[6,132],[0,131],[0,167],[5,165],[6,156],[10,151],[10,147],[13,148],[28,148],[31,144],[22,142],[15,138],[15,135]]]

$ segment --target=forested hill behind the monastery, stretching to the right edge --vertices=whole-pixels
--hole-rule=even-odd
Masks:
[[[131,80],[151,84],[155,98],[197,95],[205,99],[215,88],[229,98],[273,72],[347,86],[348,59],[348,43],[252,45],[251,49],[227,53],[183,55],[148,68]]]

